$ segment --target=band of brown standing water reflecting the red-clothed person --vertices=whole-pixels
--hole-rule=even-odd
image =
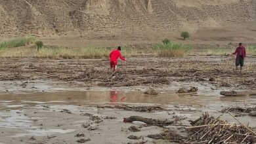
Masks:
[[[143,92],[108,91],[60,91],[35,92],[32,94],[2,94],[0,96],[0,111],[7,109],[22,109],[22,107],[37,104],[67,104],[86,105],[87,103],[149,103],[164,105],[212,105],[221,107],[238,103],[256,104],[256,96],[223,97],[217,92],[211,94],[179,95],[173,90],[160,92],[158,96],[149,96]]]

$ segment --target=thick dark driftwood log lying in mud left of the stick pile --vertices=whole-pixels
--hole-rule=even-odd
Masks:
[[[173,120],[157,120],[153,118],[144,118],[139,116],[131,116],[128,118],[123,118],[123,122],[133,122],[133,121],[144,122],[148,125],[153,125],[153,126],[168,126],[174,123]]]

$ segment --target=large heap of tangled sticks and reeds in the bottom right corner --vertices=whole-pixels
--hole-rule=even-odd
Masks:
[[[228,123],[205,113],[191,124],[184,143],[256,143],[256,132],[241,122]]]

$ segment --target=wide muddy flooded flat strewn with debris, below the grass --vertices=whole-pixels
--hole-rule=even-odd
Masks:
[[[136,121],[123,122],[123,118],[131,116],[159,120],[179,117],[179,124],[190,126],[189,120],[209,113],[215,117],[221,115],[228,122],[239,120],[255,128],[256,117],[243,113],[237,115],[236,120],[221,110],[237,106],[255,107],[256,96],[220,95],[221,91],[255,90],[255,61],[249,58],[249,66],[244,72],[238,73],[232,71],[232,67],[221,66],[232,63],[231,58],[190,59],[190,62],[185,59],[173,62],[180,65],[160,63],[159,67],[150,68],[145,58],[140,62],[135,60],[138,65],[127,64],[121,72],[113,74],[106,71],[103,76],[100,74],[106,67],[102,60],[88,61],[100,63],[95,69],[91,69],[91,65],[83,65],[83,60],[71,60],[68,63],[74,69],[66,72],[60,69],[69,64],[60,60],[55,64],[41,62],[51,65],[51,71],[49,65],[42,68],[39,63],[31,66],[21,62],[16,65],[20,67],[17,68],[19,71],[13,72],[7,68],[10,65],[2,62],[7,69],[1,73],[14,75],[2,77],[0,82],[0,143],[85,142],[81,139],[86,140],[85,143],[174,143],[152,139],[147,135],[160,134],[167,129],[179,130],[176,125],[160,127],[145,126],[143,122]],[[208,67],[209,63],[215,67]],[[209,81],[210,78],[215,81]],[[198,92],[177,94],[180,88],[190,86],[198,88]],[[148,88],[154,88],[158,95],[144,94]],[[162,109],[142,111],[143,107],[150,106]],[[140,131],[131,132],[131,126],[139,127]],[[130,135],[141,138],[129,139]]]

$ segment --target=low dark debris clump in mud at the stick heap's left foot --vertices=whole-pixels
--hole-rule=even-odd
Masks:
[[[186,137],[183,137],[180,134],[177,134],[177,132],[172,131],[172,130],[166,130],[165,132],[162,132],[161,134],[152,134],[148,135],[148,137],[152,139],[165,139],[170,142],[176,142],[176,143],[183,143],[184,139]]]

